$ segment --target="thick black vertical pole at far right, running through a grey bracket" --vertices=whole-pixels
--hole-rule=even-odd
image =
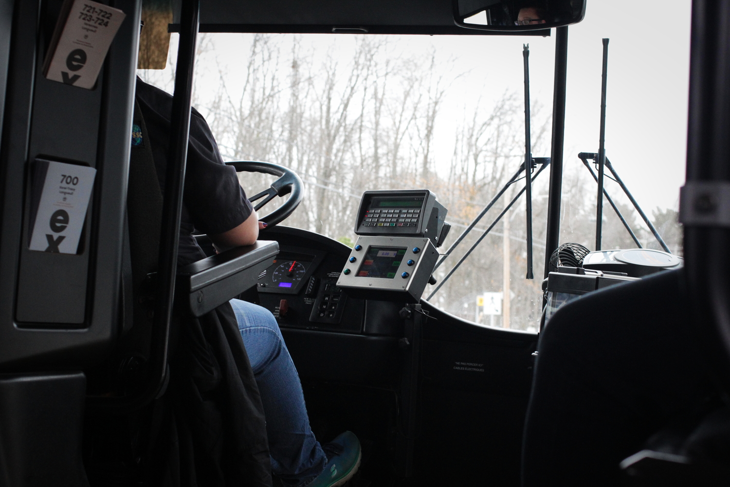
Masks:
[[[690,44],[687,183],[730,182],[730,3],[694,0]],[[694,205],[688,201],[682,204]],[[717,205],[717,211],[723,206]],[[730,229],[684,226],[686,302],[724,394],[730,384]]]

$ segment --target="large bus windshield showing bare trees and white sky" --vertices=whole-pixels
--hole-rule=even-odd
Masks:
[[[589,31],[588,20],[571,28],[561,243],[578,242],[593,250],[596,185],[577,158],[581,151],[596,152],[599,130],[601,36]],[[664,63],[666,79],[677,83],[667,82],[656,93],[656,76],[646,69],[631,74],[636,37],[627,41],[618,30],[608,78],[607,155],[675,253],[681,252],[676,210],[685,153],[685,27],[686,36],[675,41],[672,62],[656,61]],[[590,39],[590,49],[574,31]],[[166,69],[139,72],[169,92],[176,41],[173,35]],[[449,211],[453,228],[440,248],[445,251],[523,161],[523,42],[530,49],[532,153],[549,157],[550,37],[201,34],[193,106],[210,124],[224,160],[270,161],[301,176],[304,200],[284,225],[351,246],[363,191],[428,188]],[[658,123],[658,117],[664,120]],[[641,134],[636,133],[639,126]],[[239,179],[249,196],[271,183],[251,173],[241,173]],[[487,326],[537,329],[548,180],[549,168],[533,188],[536,278],[525,279],[522,196],[431,302]],[[607,181],[607,191],[642,245],[659,248],[611,183]],[[439,266],[437,280],[523,185],[518,180],[507,189]],[[603,234],[604,249],[636,246],[608,205]]]

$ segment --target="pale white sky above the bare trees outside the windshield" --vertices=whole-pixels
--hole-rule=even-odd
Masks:
[[[588,0],[585,20],[569,27],[565,170],[585,171],[577,153],[598,151],[601,39],[608,37],[606,153],[648,214],[656,206],[676,209],[685,178],[690,20],[689,0]],[[530,46],[531,98],[542,104],[543,116],[550,114],[554,33],[545,38],[399,37],[394,53],[427,55],[436,47],[442,60],[453,60],[455,72],[468,72],[452,85],[439,115],[437,166],[439,161],[450,161],[453,127],[465,105],[481,97],[488,107],[505,91],[521,97],[523,43]],[[231,78],[231,86],[240,79],[245,65],[241,53],[247,52],[250,39],[250,34],[215,35],[215,57],[228,64],[226,78]],[[334,53],[346,64],[355,36],[323,34],[304,39],[315,58],[334,45]],[[217,69],[202,64],[197,69],[197,90],[213,93],[220,83]],[[534,153],[549,155],[547,146],[544,153]],[[612,184],[607,182],[611,193],[620,191]]]

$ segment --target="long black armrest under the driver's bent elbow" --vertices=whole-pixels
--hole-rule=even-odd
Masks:
[[[279,253],[279,242],[258,240],[188,264],[177,272],[180,296],[199,317],[246,291]]]

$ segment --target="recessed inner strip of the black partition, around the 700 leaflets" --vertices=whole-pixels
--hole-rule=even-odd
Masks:
[[[39,45],[45,45],[48,32],[42,28],[39,34]],[[23,212],[21,237],[24,245],[20,245],[15,319],[18,326],[82,326],[88,288],[90,232],[83,232],[76,255],[28,250],[25,242],[29,241],[31,232],[30,175],[36,156],[96,168],[104,74],[99,76],[96,89],[85,90],[46,80],[42,64],[43,58],[38,56],[24,185],[26,211]],[[87,215],[93,215],[95,210],[93,204],[89,205]],[[88,229],[88,225],[85,227]]]

